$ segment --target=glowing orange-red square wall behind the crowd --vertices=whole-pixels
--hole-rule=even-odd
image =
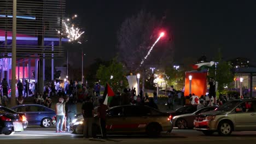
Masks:
[[[189,75],[192,76],[191,93],[197,96],[205,95],[207,90],[207,72],[189,71],[186,72],[184,95],[189,95]]]

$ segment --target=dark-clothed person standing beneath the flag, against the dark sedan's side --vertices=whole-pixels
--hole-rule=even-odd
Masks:
[[[98,107],[98,118],[100,118],[100,126],[101,126],[101,134],[102,138],[106,139],[106,115],[107,115],[107,110],[108,106],[104,105],[104,99],[100,99],[100,106]]]

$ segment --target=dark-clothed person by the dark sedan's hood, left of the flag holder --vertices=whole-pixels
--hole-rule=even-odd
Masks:
[[[84,117],[84,131],[83,138],[92,137],[92,121],[94,119],[94,105],[92,104],[91,97],[86,97],[85,103],[82,106]]]

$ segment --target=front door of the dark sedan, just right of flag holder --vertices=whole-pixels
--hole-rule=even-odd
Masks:
[[[109,109],[107,112],[107,131],[108,133],[120,133],[123,131],[124,110],[122,106]]]

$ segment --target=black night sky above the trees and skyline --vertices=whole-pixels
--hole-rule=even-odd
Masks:
[[[97,57],[104,60],[114,57],[121,23],[141,9],[158,19],[166,16],[165,26],[171,29],[174,62],[201,55],[212,58],[221,48],[224,59],[247,57],[256,63],[256,1],[67,0],[66,14],[78,14],[88,40],[65,46],[74,51],[71,53],[73,63],[80,60],[75,56],[80,55],[82,47],[86,53],[85,65]]]

